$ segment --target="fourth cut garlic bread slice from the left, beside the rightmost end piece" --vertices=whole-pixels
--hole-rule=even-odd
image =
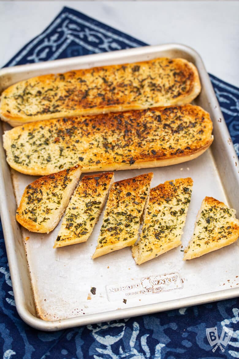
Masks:
[[[139,242],[133,258],[142,264],[178,247],[192,193],[192,178],[166,181],[150,190]]]

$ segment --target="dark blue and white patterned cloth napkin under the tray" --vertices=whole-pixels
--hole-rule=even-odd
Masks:
[[[53,22],[5,66],[147,45],[97,20],[63,8]],[[237,154],[239,89],[210,75]],[[1,230],[1,226],[0,226]],[[212,353],[206,328],[234,329],[224,353]],[[0,232],[0,357],[4,359],[239,358],[239,300],[78,327],[58,332],[30,328],[15,308],[3,232]]]

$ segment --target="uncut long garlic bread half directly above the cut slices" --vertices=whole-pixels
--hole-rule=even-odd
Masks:
[[[82,172],[167,166],[198,157],[213,140],[209,113],[192,105],[32,122],[3,138],[9,165],[32,175],[78,163]]]

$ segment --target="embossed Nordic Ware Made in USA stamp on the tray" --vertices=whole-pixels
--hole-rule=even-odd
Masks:
[[[178,272],[153,275],[105,286],[109,301],[133,298],[139,295],[167,292],[183,287]]]

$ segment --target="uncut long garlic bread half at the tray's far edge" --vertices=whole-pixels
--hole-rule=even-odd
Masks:
[[[37,76],[1,95],[0,117],[11,126],[190,103],[201,90],[196,67],[184,59],[159,58]]]

